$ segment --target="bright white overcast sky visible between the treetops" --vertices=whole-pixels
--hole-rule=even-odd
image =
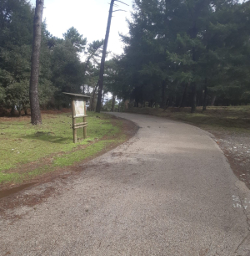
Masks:
[[[30,0],[35,6],[36,0]],[[133,0],[122,0],[129,7],[119,4],[119,9],[127,11],[113,13],[111,31],[107,50],[115,54],[122,53],[122,42],[118,33],[128,33],[126,17],[130,17]],[[52,35],[62,38],[68,28],[77,28],[77,31],[87,38],[87,42],[101,40],[105,37],[107,15],[110,0],[45,0],[43,19],[46,19],[47,30]],[[117,8],[114,8],[117,9]]]

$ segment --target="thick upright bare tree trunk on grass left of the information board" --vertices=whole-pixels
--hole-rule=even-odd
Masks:
[[[42,124],[38,99],[39,60],[42,38],[42,12],[44,0],[37,0],[33,23],[32,67],[29,87],[29,100],[32,125]]]

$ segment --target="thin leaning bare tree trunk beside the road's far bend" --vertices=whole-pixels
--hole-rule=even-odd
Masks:
[[[100,67],[100,74],[99,74],[99,89],[98,89],[98,98],[97,98],[97,113],[101,112],[102,108],[102,88],[103,88],[103,74],[104,74],[104,64],[105,64],[105,59],[106,59],[106,54],[107,54],[107,42],[108,42],[108,37],[109,37],[109,31],[110,31],[110,25],[111,25],[111,19],[112,19],[112,8],[115,0],[111,0],[110,3],[110,8],[109,8],[109,14],[107,18],[107,30],[106,30],[106,35],[105,35],[105,40],[104,40],[104,45],[103,45],[103,51],[102,51],[102,60],[101,60],[101,67]]]

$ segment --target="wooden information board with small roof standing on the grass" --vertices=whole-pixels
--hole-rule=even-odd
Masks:
[[[87,95],[70,94],[63,93],[71,97],[72,106],[72,131],[73,131],[73,141],[77,143],[77,129],[83,127],[83,138],[87,138],[87,113],[86,113],[86,101],[90,98]],[[83,118],[82,123],[77,123],[77,118]]]

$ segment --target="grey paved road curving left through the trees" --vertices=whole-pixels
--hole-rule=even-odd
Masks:
[[[130,141],[1,220],[1,255],[250,255],[250,194],[209,134],[146,115]],[[33,188],[39,193],[43,187]]]

